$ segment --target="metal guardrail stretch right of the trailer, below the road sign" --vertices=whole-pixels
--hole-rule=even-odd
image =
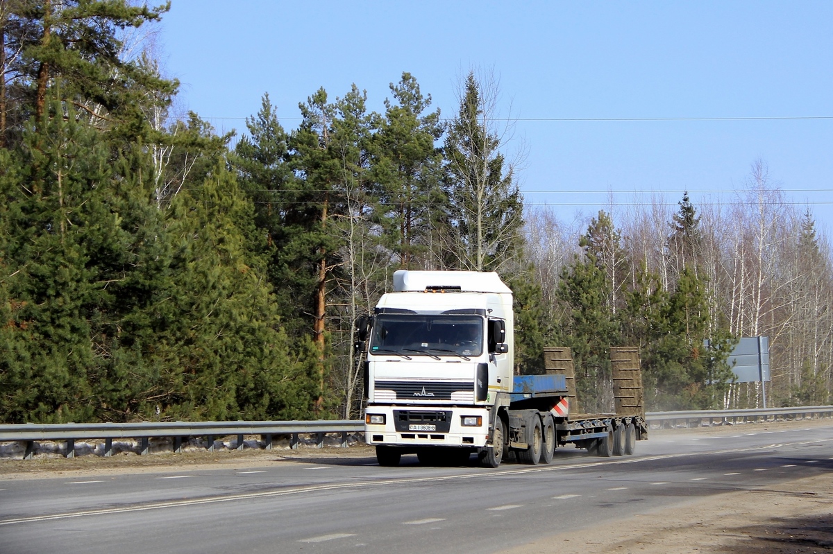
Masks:
[[[691,423],[702,425],[727,424],[727,423],[750,423],[761,421],[795,420],[806,418],[831,418],[833,417],[833,406],[791,406],[789,408],[753,408],[746,410],[688,410],[677,412],[648,412],[645,414],[646,421],[659,423],[661,427],[677,426],[684,424],[690,427]]]

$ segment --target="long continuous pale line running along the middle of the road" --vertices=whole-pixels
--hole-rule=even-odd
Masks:
[[[786,446],[804,446],[806,444],[830,443],[833,438],[816,438],[811,441],[796,441],[795,443],[784,443]],[[48,516],[34,516],[34,517],[17,517],[13,519],[0,519],[0,527],[6,525],[16,525],[18,523],[33,523],[33,522],[49,522],[56,519],[69,519],[71,517],[89,517],[102,516],[117,513],[128,512],[147,512],[147,510],[162,510],[164,508],[183,507],[183,506],[197,506],[201,504],[217,504],[219,502],[239,502],[242,500],[250,501],[257,498],[273,498],[285,497],[292,494],[309,494],[310,492],[323,491],[340,491],[344,489],[355,490],[359,488],[368,487],[390,487],[391,485],[413,484],[421,482],[436,483],[438,481],[460,481],[461,479],[495,479],[501,477],[510,477],[512,475],[527,475],[529,473],[540,472],[563,472],[570,469],[587,469],[591,467],[610,467],[621,464],[639,464],[643,462],[656,462],[658,460],[676,460],[681,458],[691,458],[694,456],[714,456],[717,454],[732,454],[742,452],[756,452],[764,448],[761,446],[751,446],[742,448],[726,448],[719,450],[712,450],[709,452],[696,453],[675,453],[675,454],[656,454],[654,456],[634,456],[631,458],[624,458],[621,460],[605,460],[604,462],[577,462],[566,463],[564,465],[553,466],[534,466],[521,467],[518,469],[507,469],[497,472],[471,472],[471,473],[453,473],[443,477],[402,477],[398,479],[380,478],[367,482],[336,482],[327,485],[307,485],[295,487],[281,491],[267,491],[267,492],[246,492],[243,494],[229,494],[226,496],[194,498],[189,500],[174,500],[170,502],[150,502],[142,506],[132,507],[117,507],[117,508],[102,508],[100,510],[85,510],[80,512],[63,512],[55,513]],[[378,465],[378,464],[372,464]],[[731,473],[731,475],[739,475],[739,473]]]

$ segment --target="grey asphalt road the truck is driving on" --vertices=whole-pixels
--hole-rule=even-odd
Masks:
[[[473,458],[472,458],[473,459]],[[497,552],[722,492],[833,472],[833,423],[739,426],[549,466],[401,467],[374,458],[0,481],[0,554]]]

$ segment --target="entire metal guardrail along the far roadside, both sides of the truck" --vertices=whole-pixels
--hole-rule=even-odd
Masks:
[[[647,423],[658,423],[661,427],[676,427],[681,423],[690,427],[691,423],[702,425],[708,423],[726,424],[767,421],[772,418],[824,418],[833,417],[833,406],[796,406],[791,408],[756,408],[748,410],[690,410],[678,412],[648,412]],[[349,433],[362,433],[362,420],[318,420],[318,421],[228,421],[228,422],[162,422],[162,423],[26,423],[23,425],[0,425],[0,443],[25,443],[24,459],[30,459],[34,453],[36,441],[66,442],[67,458],[75,453],[75,441],[82,439],[104,439],[104,456],[112,456],[114,438],[138,439],[139,453],[149,452],[151,438],[172,438],[172,451],[182,452],[182,438],[205,438],[206,449],[214,449],[215,437],[237,435],[237,450],[243,448],[244,435],[261,435],[265,448],[272,449],[274,435],[290,435],[290,448],[299,445],[299,434],[316,435],[316,446],[323,446],[327,433],[341,433],[342,447],[347,446]]]

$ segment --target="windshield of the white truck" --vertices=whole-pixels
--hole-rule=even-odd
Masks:
[[[379,314],[371,354],[479,356],[483,319],[477,315]]]

